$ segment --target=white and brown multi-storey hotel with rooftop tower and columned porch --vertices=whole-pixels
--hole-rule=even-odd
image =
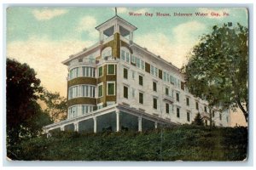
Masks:
[[[191,123],[207,101],[189,94],[179,69],[133,42],[136,26],[115,15],[96,26],[99,41],[63,61],[68,67],[67,120],[44,127],[102,132]],[[147,40],[145,40],[147,41]],[[212,124],[229,126],[230,111],[212,110]]]

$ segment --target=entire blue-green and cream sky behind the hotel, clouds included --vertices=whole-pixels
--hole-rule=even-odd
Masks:
[[[142,16],[130,16],[129,13]],[[171,14],[155,16],[156,12]],[[195,17],[195,12],[208,14]],[[229,16],[223,16],[226,12]],[[154,14],[152,17],[145,13]],[[173,13],[192,13],[192,17],[174,17]],[[177,67],[199,37],[212,31],[212,26],[237,22],[247,26],[245,8],[118,8],[123,19],[137,26],[134,41]],[[214,17],[211,14],[220,14]],[[114,8],[38,8],[7,9],[7,55],[34,68],[42,84],[51,91],[67,95],[67,67],[61,61],[98,41],[95,27],[110,19]]]

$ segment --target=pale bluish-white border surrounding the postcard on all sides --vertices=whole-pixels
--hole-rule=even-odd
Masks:
[[[81,3],[81,1],[79,0],[73,0],[73,1],[65,1],[65,3],[61,0],[44,0],[43,1],[37,1],[36,5],[40,5],[40,6],[44,6],[45,3],[48,3],[47,6],[52,5],[52,6],[96,6],[96,4],[98,4],[99,6],[124,6],[124,3],[130,3],[131,1],[128,0],[123,0],[122,3],[120,4],[119,1],[117,0],[112,0],[111,3],[119,3],[119,4],[111,4],[111,3],[105,3],[99,0],[94,0],[92,2],[86,2],[88,4],[74,4],[74,3]],[[23,0],[22,3],[20,3],[19,0],[3,0],[2,4],[3,4],[3,13],[1,13],[1,19],[3,20],[1,23],[3,23],[2,27],[2,31],[3,33],[1,34],[1,37],[3,39],[3,43],[2,44],[2,51],[3,51],[3,57],[0,58],[1,64],[2,64],[2,71],[0,71],[0,76],[3,77],[2,78],[2,85],[3,87],[0,88],[0,94],[2,94],[3,96],[3,103],[0,102],[0,108],[3,108],[2,111],[3,113],[5,113],[5,106],[6,106],[6,99],[5,99],[5,63],[6,63],[6,13],[5,13],[5,9],[9,6],[9,4],[7,3],[16,3],[13,5],[16,6],[25,6],[25,5],[30,5],[30,6],[34,6],[35,2],[31,1],[31,0]],[[44,4],[43,4],[44,3]],[[59,4],[58,4],[59,3]],[[101,4],[101,3],[105,3],[105,4]],[[219,7],[219,6],[223,6],[223,7],[241,7],[241,6],[246,6],[249,9],[249,20],[250,20],[250,25],[249,25],[249,31],[250,31],[250,40],[249,40],[249,50],[250,50],[250,58],[249,58],[249,71],[250,71],[250,75],[249,75],[249,99],[250,99],[250,105],[249,105],[249,110],[250,112],[253,113],[253,97],[255,96],[255,93],[253,91],[253,84],[254,84],[254,79],[253,79],[253,74],[254,74],[254,69],[253,69],[253,37],[255,39],[255,36],[253,35],[253,15],[255,13],[253,13],[253,7],[255,8],[255,3],[253,0],[215,0],[215,1],[210,1],[210,2],[206,2],[206,1],[202,1],[202,0],[195,0],[194,3],[190,3],[189,1],[183,1],[183,0],[172,0],[172,3],[175,4],[167,4],[166,5],[166,0],[158,0],[157,3],[155,4],[154,2],[150,2],[150,1],[146,1],[146,0],[141,0],[141,1],[137,1],[134,2],[136,6],[174,6],[174,7],[196,7],[196,6],[203,6],[203,7]],[[147,3],[142,4],[142,3]],[[162,4],[160,4],[162,3]],[[164,4],[165,3],[165,4]],[[170,3],[170,2],[169,2]],[[187,4],[190,3],[190,4]],[[204,4],[195,4],[195,3],[204,3]],[[212,4],[213,3],[213,4]],[[225,3],[230,3],[230,4],[225,4]],[[244,3],[252,3],[250,4],[244,4]],[[60,5],[61,4],[61,5]],[[134,6],[134,4],[125,4],[128,6]],[[255,31],[255,26],[254,26],[254,31]],[[97,162],[72,162],[72,161],[19,161],[19,162],[9,162],[5,159],[6,155],[6,150],[5,150],[5,139],[3,139],[3,136],[5,137],[5,114],[2,114],[2,118],[0,120],[0,123],[3,125],[3,133],[0,133],[1,135],[1,139],[0,140],[0,144],[3,146],[3,152],[0,152],[1,155],[1,163],[3,161],[3,165],[2,166],[19,166],[19,169],[34,169],[34,167],[31,166],[42,166],[42,167],[37,167],[39,169],[44,169],[45,166],[62,166],[61,169],[70,169],[70,167],[72,166],[92,166],[92,167],[96,167],[96,166],[104,166],[104,167],[112,167],[112,166],[137,166],[141,169],[142,166],[147,166],[147,169],[150,168],[154,168],[154,167],[160,167],[163,168],[164,166],[178,166],[178,168],[180,168],[180,166],[183,167],[188,167],[188,166],[200,166],[200,167],[195,167],[196,169],[205,169],[206,166],[207,168],[210,169],[216,169],[216,166],[224,166],[225,168],[228,169],[240,169],[243,166],[250,166],[250,167],[243,167],[246,169],[253,169],[253,151],[255,153],[255,148],[253,148],[253,138],[255,138],[253,136],[253,131],[255,132],[255,126],[253,126],[253,114],[250,115],[250,125],[249,125],[249,150],[248,150],[248,161],[245,162],[178,162],[178,161],[174,161],[174,162],[153,162],[153,161],[147,161],[147,162],[122,162],[122,161],[115,161],[115,162],[102,162],[102,161],[97,161]],[[254,163],[255,164],[255,163]],[[30,167],[27,167],[30,166]],[[203,166],[203,167],[202,167]],[[213,166],[213,167],[208,167],[208,166]],[[232,167],[231,167],[232,166]],[[77,168],[79,168],[77,167]],[[231,167],[231,168],[229,168]],[[3,167],[3,169],[7,169],[8,167]],[[118,167],[112,167],[111,169],[117,169]],[[131,167],[122,167],[124,169],[131,169]],[[166,167],[166,169],[169,167]],[[172,167],[174,168],[174,167]],[[84,168],[83,168],[84,169]],[[191,169],[191,167],[189,167],[189,169]]]

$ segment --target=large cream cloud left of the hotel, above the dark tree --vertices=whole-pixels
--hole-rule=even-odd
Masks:
[[[66,97],[67,66],[61,62],[91,44],[73,39],[53,42],[46,37],[31,37],[26,41],[10,42],[7,45],[7,56],[30,65],[44,87]]]

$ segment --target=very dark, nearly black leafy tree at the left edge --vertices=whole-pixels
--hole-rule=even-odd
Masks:
[[[15,59],[7,59],[6,69],[7,151],[15,159],[21,139],[37,136],[50,121],[37,103],[42,88],[35,71]]]

